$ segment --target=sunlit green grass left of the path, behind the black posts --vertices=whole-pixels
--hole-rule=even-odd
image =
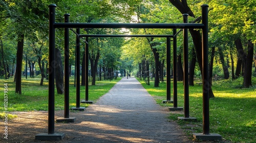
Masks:
[[[104,80],[96,81],[96,85],[90,85],[89,83],[89,100],[96,102],[101,96],[109,92],[109,90],[119,81],[116,80]],[[4,84],[8,84],[8,108],[4,107]],[[44,81],[44,85],[40,86],[40,78],[28,78],[22,79],[22,94],[15,93],[15,82],[13,79],[0,79],[0,91],[3,96],[0,96],[2,106],[0,107],[0,118],[5,118],[5,111],[9,111],[8,119],[17,117],[11,112],[15,111],[47,111],[48,110],[48,81]],[[80,101],[85,98],[85,86],[80,86]],[[81,107],[88,107],[90,104],[80,103]],[[70,79],[70,108],[76,106],[76,87],[74,86],[74,78]],[[55,89],[55,110],[64,109],[64,94],[57,94]]]

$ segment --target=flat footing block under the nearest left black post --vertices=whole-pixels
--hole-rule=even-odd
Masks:
[[[62,140],[65,137],[65,133],[39,133],[35,135],[36,140]]]

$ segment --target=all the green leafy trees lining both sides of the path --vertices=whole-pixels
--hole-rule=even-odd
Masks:
[[[232,79],[243,77],[244,87],[251,85],[252,65],[255,66],[256,57],[253,50],[256,43],[256,7],[253,1],[3,0],[0,2],[0,74],[4,75],[4,78],[9,78],[15,70],[16,92],[18,93],[22,93],[21,75],[26,68],[26,58],[28,58],[29,66],[32,67],[35,63],[39,65],[41,85],[47,75],[48,5],[52,3],[57,5],[57,22],[63,22],[63,14],[70,13],[70,22],[87,23],[181,23],[183,13],[189,14],[189,22],[200,22],[200,6],[208,4],[210,78],[212,75],[220,74],[215,73],[215,68],[220,66],[223,70],[223,78],[228,79],[230,75]],[[190,29],[189,32],[191,35],[189,37],[189,74],[193,75],[189,77],[189,84],[194,85],[195,70],[202,68],[201,33],[195,29]],[[173,34],[173,31],[165,29],[81,29],[80,33],[157,35]],[[59,54],[63,55],[63,30],[57,30],[56,35],[56,48],[60,50]],[[70,62],[71,65],[75,65],[75,34],[71,32],[70,37],[74,37],[70,42]],[[81,47],[85,44],[86,42],[81,42]],[[182,81],[182,36],[178,36],[177,45],[179,70],[177,76],[178,80]],[[131,71],[133,67],[138,67],[142,73],[146,70],[146,64],[154,65],[154,76],[160,75],[163,79],[166,64],[165,38],[89,38],[89,47],[92,84],[95,84],[95,76],[99,69],[105,72],[118,68]],[[81,52],[81,57],[83,61],[83,52]],[[230,70],[231,74],[229,74]],[[156,87],[158,83],[159,78],[155,78]],[[211,97],[214,97],[213,93]]]

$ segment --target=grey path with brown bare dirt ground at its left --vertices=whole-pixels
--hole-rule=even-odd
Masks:
[[[8,140],[2,135],[0,142],[53,142],[35,140],[47,133],[47,111],[17,114]],[[70,112],[74,123],[56,123],[55,132],[66,136],[54,142],[192,142],[167,114],[135,78],[123,78],[85,112]],[[62,116],[63,111],[55,112],[56,118]]]

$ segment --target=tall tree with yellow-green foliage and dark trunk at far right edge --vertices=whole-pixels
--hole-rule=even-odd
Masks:
[[[247,59],[249,53],[246,54],[246,51],[251,51],[249,45],[256,42],[256,27],[253,24],[256,20],[255,4],[253,1],[227,0],[223,2],[215,0],[210,1],[209,5],[214,8],[211,15],[216,17],[212,19],[212,22],[216,23],[212,32],[216,31],[217,33],[218,31],[223,37],[231,37],[228,39],[229,41],[234,41],[238,53],[236,78],[241,75],[244,76],[243,86],[249,87],[251,84],[251,71],[249,69],[252,66],[252,58],[249,55]],[[243,45],[247,45],[247,48]]]

